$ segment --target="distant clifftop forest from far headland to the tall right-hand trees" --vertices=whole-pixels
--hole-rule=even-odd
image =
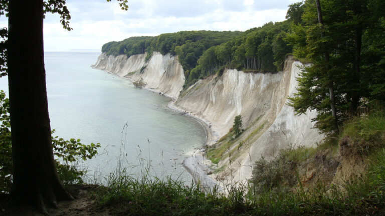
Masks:
[[[176,54],[188,86],[225,67],[253,71],[282,69],[285,55],[292,49],[285,41],[290,23],[269,22],[245,32],[201,30],[130,37],[104,44],[102,52],[127,56],[147,52],[146,59],[153,51]]]

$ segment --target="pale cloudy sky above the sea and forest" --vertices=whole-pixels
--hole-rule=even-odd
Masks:
[[[58,14],[46,14],[45,51],[100,50],[109,41],[156,36],[181,30],[241,30],[285,19],[287,6],[299,0],[67,0],[71,31]],[[8,26],[0,17],[0,26]]]

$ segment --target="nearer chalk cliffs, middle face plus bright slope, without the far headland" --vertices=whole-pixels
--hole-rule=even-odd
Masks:
[[[226,69],[221,77],[199,80],[176,101],[178,107],[208,120],[217,132],[217,139],[229,131],[236,115],[242,115],[245,131],[229,149],[238,147],[241,152],[232,158],[232,166],[226,159],[231,155],[226,153],[219,164],[232,167],[235,180],[251,177],[252,164],[261,156],[269,159],[277,155],[279,149],[290,145],[312,146],[323,138],[313,128],[314,110],[295,115],[293,107],[287,105],[287,97],[296,92],[295,77],[301,65],[289,57],[283,71],[277,73]],[[245,143],[241,148],[240,142]]]

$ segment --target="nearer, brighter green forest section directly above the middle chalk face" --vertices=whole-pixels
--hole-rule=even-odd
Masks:
[[[290,21],[269,22],[249,29],[237,37],[207,49],[198,59],[198,65],[188,74],[188,83],[194,83],[225,67],[244,71],[277,71],[283,68],[285,55],[291,45],[284,39]]]

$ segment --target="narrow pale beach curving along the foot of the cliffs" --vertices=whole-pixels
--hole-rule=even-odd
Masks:
[[[95,67],[94,65],[91,65],[92,68],[94,69],[99,69]],[[103,70],[103,69],[99,69]],[[131,82],[134,82],[131,78],[128,77],[123,77],[119,76],[114,73],[110,73],[106,70],[103,70],[109,74],[116,75],[121,78],[128,79]],[[154,93],[159,93],[162,96],[168,97],[171,99],[170,102],[167,103],[166,107],[169,109],[172,109],[174,111],[184,113],[186,112],[185,110],[182,110],[178,108],[174,103],[176,101],[176,97],[168,95],[166,93],[161,93],[159,90],[156,90],[154,88],[149,88],[149,87],[141,87],[143,89],[152,91]],[[200,118],[198,116],[195,116],[194,114],[191,114],[190,112],[185,113],[184,115],[188,115],[195,120],[197,120],[201,125],[204,127],[205,132],[206,132],[206,141],[203,143],[201,147],[199,147],[197,150],[195,150],[191,156],[188,156],[187,158],[183,159],[181,162],[182,166],[184,169],[187,170],[187,172],[193,177],[194,181],[196,184],[200,183],[201,187],[206,190],[206,191],[213,191],[214,187],[217,185],[217,189],[220,189],[221,186],[218,184],[216,180],[210,174],[213,174],[213,170],[211,169],[210,165],[212,164],[211,160],[205,158],[203,151],[205,149],[206,145],[212,145],[216,143],[218,140],[218,135],[216,132],[211,128],[211,122],[207,121],[206,119]],[[215,135],[214,135],[215,134]]]

